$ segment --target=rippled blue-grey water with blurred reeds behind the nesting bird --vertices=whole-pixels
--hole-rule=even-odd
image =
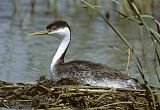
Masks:
[[[152,66],[153,45],[147,37],[148,33],[113,11],[129,15],[124,9],[126,0],[117,0],[121,3],[119,5],[116,0],[113,1],[88,0],[129,40],[145,67],[147,80],[158,86]],[[158,0],[137,0],[136,4],[141,13],[160,19]],[[27,34],[44,30],[56,19],[67,21],[72,30],[72,41],[65,61],[95,61],[141,79],[133,58],[126,72],[128,48],[125,44],[101,17],[80,0],[0,0],[0,80],[34,82],[41,75],[48,75],[60,40],[51,36],[31,37]],[[146,21],[152,26],[151,20]],[[142,34],[145,37],[141,37]]]

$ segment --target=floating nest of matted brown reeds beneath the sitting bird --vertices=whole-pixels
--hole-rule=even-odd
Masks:
[[[53,82],[41,77],[35,84],[0,81],[0,106],[8,109],[149,110],[146,90],[80,85],[74,79]]]

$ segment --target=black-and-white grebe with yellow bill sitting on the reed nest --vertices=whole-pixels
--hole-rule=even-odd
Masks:
[[[54,20],[44,31],[33,32],[29,35],[50,35],[61,39],[50,65],[52,80],[76,78],[90,86],[142,89],[136,79],[105,64],[85,60],[65,62],[65,55],[71,41],[71,28],[66,21]]]

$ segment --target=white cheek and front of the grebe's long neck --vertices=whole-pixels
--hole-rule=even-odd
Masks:
[[[66,49],[67,49],[67,47],[70,43],[70,37],[71,36],[70,36],[70,30],[67,27],[58,29],[58,30],[50,32],[48,34],[50,34],[50,35],[51,34],[53,34],[53,35],[57,34],[60,37],[63,37],[63,39],[62,39],[62,41],[61,41],[61,43],[58,47],[58,50],[57,50],[55,56],[52,59],[50,70],[51,70],[51,72],[53,72],[54,66],[58,63],[58,61],[60,60],[60,58],[62,57],[62,55],[66,51]]]

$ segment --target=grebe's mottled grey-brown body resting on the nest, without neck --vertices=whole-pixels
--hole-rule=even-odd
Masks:
[[[76,78],[91,86],[141,88],[134,79],[104,64],[90,61],[61,62],[55,65],[52,79]]]

